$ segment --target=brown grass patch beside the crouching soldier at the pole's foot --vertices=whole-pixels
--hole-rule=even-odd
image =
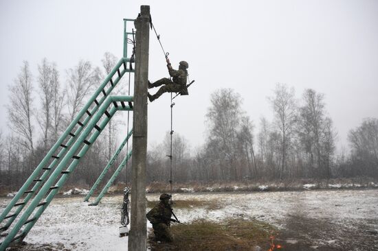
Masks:
[[[175,224],[171,227],[175,241],[156,243],[150,232],[151,249],[161,250],[254,250],[269,248],[269,237],[276,228],[257,220],[230,219],[223,223],[198,221],[192,224]]]

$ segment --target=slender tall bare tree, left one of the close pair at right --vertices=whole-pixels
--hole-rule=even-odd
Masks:
[[[288,89],[286,84],[277,84],[274,97],[270,98],[274,110],[275,125],[280,134],[280,178],[287,171],[287,154],[291,147],[291,134],[296,124],[296,99],[294,89]]]

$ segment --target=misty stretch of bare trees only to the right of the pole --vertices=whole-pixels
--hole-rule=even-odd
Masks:
[[[173,138],[173,176],[177,182],[378,178],[378,119],[368,118],[348,133],[351,151],[336,152],[337,132],[322,93],[277,84],[268,97],[274,119],[258,120],[258,131],[230,88],[214,91],[205,116],[205,143],[190,149],[184,136]],[[149,181],[169,179],[166,140],[148,152]],[[162,153],[162,150],[163,153]]]

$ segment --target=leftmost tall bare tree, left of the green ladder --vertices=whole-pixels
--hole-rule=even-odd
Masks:
[[[23,62],[14,84],[9,86],[10,104],[7,106],[10,128],[23,139],[23,146],[34,154],[32,126],[32,73],[29,63]]]

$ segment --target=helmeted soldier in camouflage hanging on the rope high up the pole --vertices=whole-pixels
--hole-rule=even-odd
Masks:
[[[188,68],[189,64],[186,61],[179,62],[179,70],[175,70],[170,65],[169,59],[166,59],[169,75],[172,77],[172,80],[169,78],[162,78],[157,80],[157,82],[151,83],[148,81],[148,88],[158,87],[159,91],[155,95],[148,93],[148,99],[150,102],[154,101],[160,97],[163,93],[180,93],[181,95],[188,95],[188,88],[186,87],[186,79],[188,78]]]

